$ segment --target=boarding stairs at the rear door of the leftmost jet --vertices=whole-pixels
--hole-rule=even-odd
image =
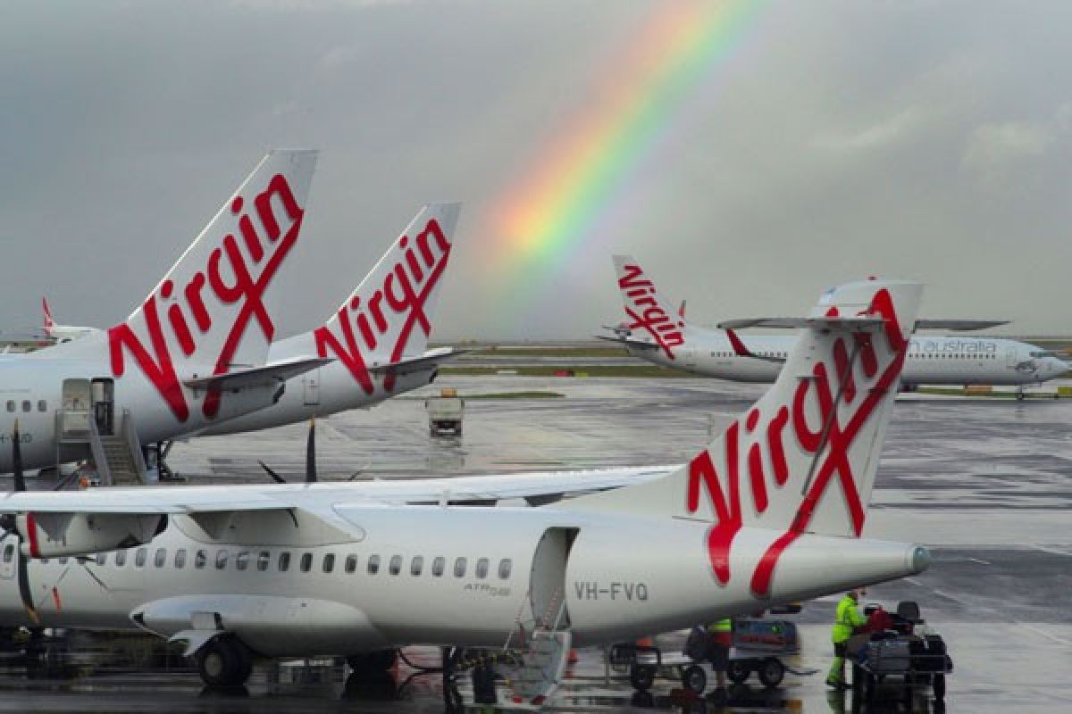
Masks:
[[[101,434],[92,413],[66,409],[57,412],[56,462],[63,446],[81,444],[101,478],[102,486],[142,486],[148,483],[142,443],[130,409],[123,409],[115,434]]]

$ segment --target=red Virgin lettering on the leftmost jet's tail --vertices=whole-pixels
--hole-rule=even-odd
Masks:
[[[284,226],[280,225],[277,204],[283,208],[287,222]],[[194,273],[187,285],[176,286],[172,280],[164,280],[159,293],[149,295],[142,305],[149,335],[148,348],[126,323],[108,330],[111,374],[116,377],[123,375],[126,368],[125,354],[130,352],[135,364],[153,383],[180,422],[189,419],[190,408],[175,371],[158,302],[170,303],[166,309],[166,329],[178,343],[184,358],[197,353],[198,337],[213,328],[208,309],[211,301],[222,305],[239,305],[219,354],[213,355],[213,375],[225,374],[230,367],[251,322],[255,321],[259,325],[268,341],[271,341],[276,333],[276,325],[264,304],[264,294],[298,240],[304,211],[298,206],[286,178],[281,173],[273,176],[267,188],[254,197],[252,208],[260,224],[259,232],[250,218],[242,196],[236,196],[230,203],[232,214],[238,217],[238,233],[245,247],[244,252],[239,245],[239,239],[233,234],[225,236],[221,246],[209,255],[205,269]],[[219,408],[220,393],[218,390],[210,390],[202,411],[205,416],[211,417]]]

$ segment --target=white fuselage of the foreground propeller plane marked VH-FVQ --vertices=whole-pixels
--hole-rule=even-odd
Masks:
[[[189,517],[174,516],[152,543],[126,549],[121,565],[120,551],[85,563],[31,560],[40,624],[170,636],[190,631],[194,613],[214,612],[255,652],[297,656],[417,643],[503,647],[519,623],[531,632],[535,621],[561,618],[559,625],[585,644],[753,612],[926,565],[925,553],[908,544],[807,535],[785,555],[770,599],[757,602],[747,577],[714,583],[704,547],[710,523],[549,507],[370,505],[338,500],[340,488],[325,486],[326,497],[315,498],[313,488],[298,501],[333,529],[304,545],[272,545],[265,532],[214,541]],[[315,532],[299,513],[301,528]],[[287,521],[281,514],[281,529],[291,530]],[[289,535],[281,531],[279,540]],[[738,534],[733,562],[742,576],[778,535],[749,528]],[[32,625],[15,584],[14,547],[10,536],[0,555],[0,618]],[[844,557],[831,563],[830,548]]]

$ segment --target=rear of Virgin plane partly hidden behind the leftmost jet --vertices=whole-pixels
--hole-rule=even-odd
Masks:
[[[330,360],[287,380],[276,404],[218,422],[199,436],[239,434],[369,408],[431,383],[449,347],[426,350],[450,259],[460,203],[429,203],[327,321],[272,343],[269,364]]]

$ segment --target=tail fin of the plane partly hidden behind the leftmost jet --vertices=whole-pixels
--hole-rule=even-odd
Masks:
[[[421,208],[360,285],[312,333],[322,358],[346,365],[369,394],[370,370],[425,355],[461,203]],[[393,389],[394,371],[384,384]]]

